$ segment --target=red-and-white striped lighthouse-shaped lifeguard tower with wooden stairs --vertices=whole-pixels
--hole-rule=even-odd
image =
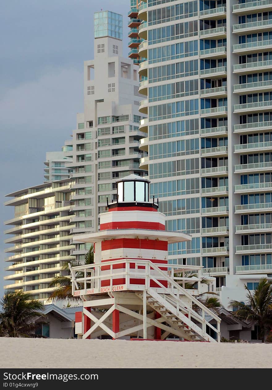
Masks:
[[[72,294],[83,301],[76,333],[83,339],[176,335],[220,342],[219,317],[195,298],[208,288],[202,267],[168,264],[168,244],[191,236],[165,230],[158,201],[149,201],[149,183],[136,175],[117,181],[117,202],[101,214],[100,230],[77,236],[94,244],[94,264],[70,268]]]

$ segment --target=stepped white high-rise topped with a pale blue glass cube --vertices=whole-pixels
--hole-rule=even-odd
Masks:
[[[122,56],[122,15],[103,11],[94,15],[94,60],[84,63],[84,113],[65,142],[74,169],[72,234],[96,231],[107,200],[117,197],[116,179],[145,175],[139,167],[140,100],[138,66]],[[74,238],[76,239],[76,237]],[[76,243],[73,254],[84,260],[87,244]]]

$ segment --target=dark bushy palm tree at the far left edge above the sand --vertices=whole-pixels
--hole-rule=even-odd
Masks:
[[[29,293],[6,291],[0,313],[0,331],[5,337],[31,337],[35,317],[41,317],[42,302],[33,300]]]

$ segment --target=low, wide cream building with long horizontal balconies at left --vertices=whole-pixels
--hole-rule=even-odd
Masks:
[[[62,267],[73,258],[74,248],[70,245],[72,184],[72,179],[60,180],[6,195],[12,197],[5,205],[14,206],[14,218],[5,221],[13,226],[5,230],[12,234],[5,243],[13,244],[5,252],[14,255],[4,259],[11,263],[5,271],[12,272],[4,277],[12,281],[5,289],[27,291],[46,303],[55,290],[50,286],[53,278],[67,273]]]

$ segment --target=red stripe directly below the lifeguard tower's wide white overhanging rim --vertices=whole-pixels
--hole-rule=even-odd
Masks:
[[[136,238],[117,238],[101,242],[101,250],[136,248],[168,251],[168,241],[156,241]]]

